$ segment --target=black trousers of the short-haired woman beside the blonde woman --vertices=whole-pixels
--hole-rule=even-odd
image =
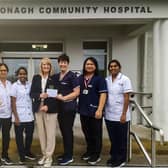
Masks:
[[[63,138],[64,157],[72,158],[73,156],[73,124],[75,114],[71,111],[58,113],[58,123]]]

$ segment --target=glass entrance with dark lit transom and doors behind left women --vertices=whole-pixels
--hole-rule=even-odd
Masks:
[[[63,42],[47,43],[47,47],[41,48],[44,43],[1,43],[2,61],[9,67],[8,79],[16,80],[15,72],[20,66],[28,70],[28,80],[32,80],[34,74],[39,73],[39,63],[43,57],[52,60],[53,72],[58,72],[57,57],[63,53]],[[33,45],[37,47],[34,48]]]

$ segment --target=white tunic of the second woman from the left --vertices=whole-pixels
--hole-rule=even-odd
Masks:
[[[32,101],[30,98],[31,83],[23,85],[19,80],[12,85],[11,96],[16,97],[16,110],[20,122],[31,122],[34,120],[32,112]],[[14,121],[14,115],[12,115]]]

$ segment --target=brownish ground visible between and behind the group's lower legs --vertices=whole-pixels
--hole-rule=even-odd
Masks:
[[[74,143],[74,162],[67,167],[88,167],[89,165],[85,162],[82,161],[80,159],[81,154],[84,152],[85,150],[85,143],[82,138],[79,137],[75,137],[75,143]],[[147,146],[147,148],[149,148],[149,142],[144,140],[144,144]],[[157,158],[156,158],[156,164],[157,167],[168,167],[168,154],[167,153],[162,153],[159,154],[159,146],[157,144]],[[101,162],[98,164],[98,166],[96,167],[106,167],[106,160],[108,159],[109,155],[109,147],[110,144],[108,142],[108,139],[104,139],[103,141],[103,150],[102,150],[102,155],[101,155]],[[162,148],[165,148],[165,150],[167,150],[168,146],[164,146]],[[161,149],[161,148],[160,148]],[[54,153],[54,163],[52,167],[62,167],[62,166],[58,166],[57,162],[56,162],[56,157],[58,155],[60,155],[62,153],[62,139],[60,137],[57,137],[57,144],[56,144],[56,148],[55,148],[55,153]],[[149,149],[148,149],[149,150]],[[162,149],[163,150],[163,149]],[[38,140],[34,140],[33,141],[33,145],[32,145],[32,152],[34,154],[36,154],[37,159],[40,157],[40,146],[39,146],[39,141]],[[10,168],[40,168],[40,166],[37,165],[37,160],[30,162],[27,161],[26,164],[24,166],[21,166],[18,164],[18,154],[17,154],[17,149],[16,149],[16,145],[15,145],[15,140],[12,139],[11,143],[10,143],[10,150],[9,150],[9,155],[11,157],[11,159],[14,161],[14,165],[13,166],[4,166],[1,165],[1,167],[10,167]],[[63,166],[64,167],[64,166]],[[91,166],[94,167],[94,166]],[[137,146],[133,143],[133,155],[132,155],[132,159],[130,160],[130,162],[127,163],[127,165],[125,167],[149,167],[147,161],[145,160],[145,158],[143,157],[142,153],[138,150]]]

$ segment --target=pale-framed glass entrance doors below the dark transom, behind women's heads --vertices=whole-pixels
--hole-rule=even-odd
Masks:
[[[61,53],[58,52],[2,52],[2,62],[9,67],[8,79],[11,82],[16,81],[16,70],[23,66],[28,70],[28,80],[32,80],[34,74],[39,73],[40,60],[48,57],[52,61],[53,72],[58,72],[57,57]]]

